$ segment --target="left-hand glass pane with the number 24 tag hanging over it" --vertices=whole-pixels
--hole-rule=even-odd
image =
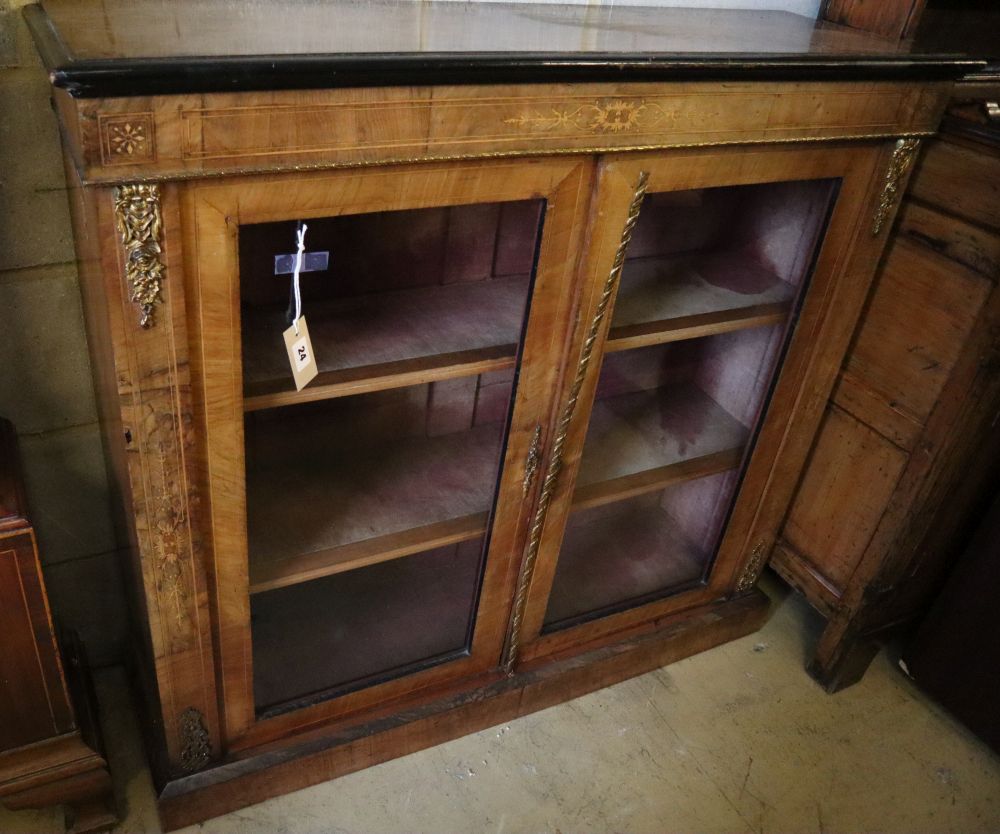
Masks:
[[[543,211],[307,221],[301,392],[281,335],[296,223],[241,228],[259,715],[468,653]]]

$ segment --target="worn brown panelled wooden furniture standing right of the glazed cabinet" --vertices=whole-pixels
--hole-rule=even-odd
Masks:
[[[958,23],[974,29],[971,13]],[[829,691],[923,611],[1000,462],[998,101],[995,66],[957,84],[916,163],[772,556],[828,619],[810,671]]]

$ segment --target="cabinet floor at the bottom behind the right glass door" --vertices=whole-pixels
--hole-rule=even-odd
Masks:
[[[694,583],[707,564],[708,554],[648,500],[574,512],[559,552],[546,626],[569,625],[608,607]]]

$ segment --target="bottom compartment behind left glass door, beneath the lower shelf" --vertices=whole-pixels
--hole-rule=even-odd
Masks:
[[[478,536],[251,597],[258,712],[464,655],[483,544]]]

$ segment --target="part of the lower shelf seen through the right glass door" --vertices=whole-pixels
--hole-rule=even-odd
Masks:
[[[739,465],[747,428],[693,383],[597,400],[573,493],[596,507]]]

